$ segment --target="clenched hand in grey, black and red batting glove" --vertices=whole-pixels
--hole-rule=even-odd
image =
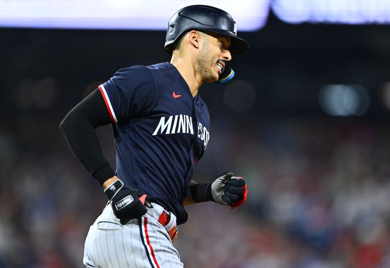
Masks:
[[[218,175],[211,184],[211,194],[216,203],[235,209],[247,199],[247,185],[242,177],[234,177],[233,172]]]

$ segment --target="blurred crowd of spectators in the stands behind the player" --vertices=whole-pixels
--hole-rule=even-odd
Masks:
[[[248,200],[236,210],[188,207],[174,243],[185,267],[390,267],[390,127],[242,117],[212,118],[194,179],[231,170],[246,179]],[[0,130],[0,267],[83,267],[106,197],[67,147],[60,119],[41,118]],[[104,150],[112,161],[112,143]]]

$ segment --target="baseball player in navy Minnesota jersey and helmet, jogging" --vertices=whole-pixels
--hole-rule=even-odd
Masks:
[[[212,183],[191,178],[210,140],[209,111],[198,89],[230,80],[227,62],[248,47],[225,11],[184,7],[168,23],[171,62],[119,70],[65,116],[61,131],[109,201],[88,232],[84,265],[183,267],[172,243],[176,226],[188,218],[184,205],[214,201],[236,208],[245,202],[246,183],[232,172]],[[95,132],[110,123],[116,172]]]

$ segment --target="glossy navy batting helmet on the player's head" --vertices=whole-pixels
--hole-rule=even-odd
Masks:
[[[165,50],[172,55],[173,47],[188,30],[205,30],[231,37],[230,53],[245,53],[248,42],[237,37],[235,21],[229,13],[208,5],[190,5],[175,13],[168,22]]]

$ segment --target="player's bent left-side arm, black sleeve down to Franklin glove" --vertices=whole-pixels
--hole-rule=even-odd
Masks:
[[[110,124],[103,96],[97,89],[76,105],[59,125],[81,165],[105,189],[117,218],[133,219],[146,213],[138,192],[118,179],[104,158],[95,129]]]

